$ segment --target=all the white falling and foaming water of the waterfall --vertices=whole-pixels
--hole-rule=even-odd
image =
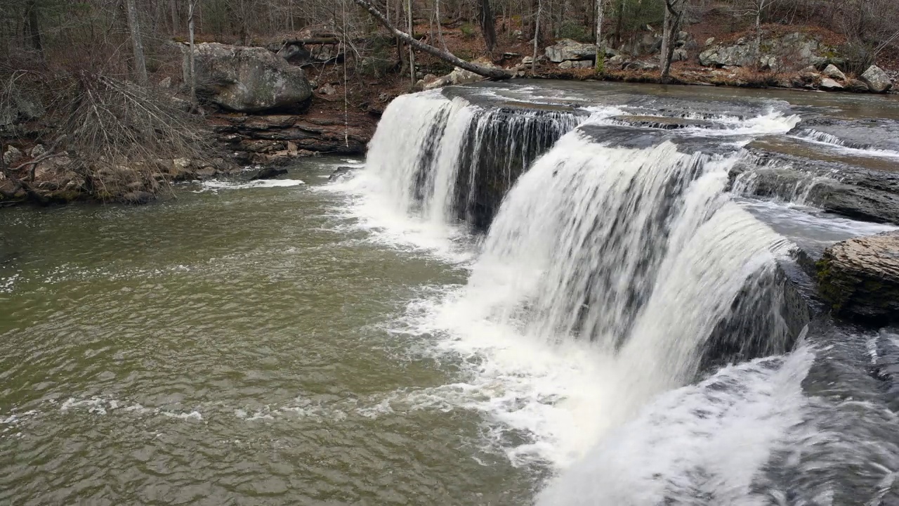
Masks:
[[[434,227],[489,225],[467,284],[412,304],[402,331],[462,357],[459,383],[423,397],[484,412],[513,464],[560,473],[540,505],[833,506],[852,490],[833,476],[853,466],[881,483],[866,497],[889,496],[893,447],[866,447],[868,426],[822,439],[847,409],[804,392],[817,349],[792,349],[809,321],[788,300],[795,245],[739,198],[767,191],[753,171],[779,169],[748,144],[797,116],[668,122],[606,104],[586,120],[448,96],[391,104],[358,179]],[[770,194],[805,202],[830,176]],[[851,465],[832,458],[843,450]]]

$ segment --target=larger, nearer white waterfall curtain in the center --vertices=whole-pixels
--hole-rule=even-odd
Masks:
[[[439,320],[463,340],[495,331],[547,352],[582,342],[603,385],[577,445],[600,439],[689,383],[749,277],[773,266],[783,240],[724,194],[732,163],[568,134],[512,189]]]

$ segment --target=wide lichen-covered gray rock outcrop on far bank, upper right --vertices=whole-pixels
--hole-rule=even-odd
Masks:
[[[755,45],[743,39],[730,45],[717,45],[699,53],[699,63],[706,67],[749,67],[757,62],[775,70],[823,65],[827,58],[823,52],[830,50],[814,37],[804,33],[789,33],[778,39],[761,41],[758,54]],[[785,63],[787,62],[787,63]]]

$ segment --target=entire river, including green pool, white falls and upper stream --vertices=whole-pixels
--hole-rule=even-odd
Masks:
[[[892,504],[899,336],[796,258],[896,230],[830,211],[891,221],[897,109],[448,88],[367,160],[4,209],[0,503]]]

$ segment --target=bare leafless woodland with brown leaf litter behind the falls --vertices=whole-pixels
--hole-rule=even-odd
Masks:
[[[845,57],[844,69],[851,76],[877,60],[895,62],[899,38],[897,0],[7,0],[4,4],[0,142],[40,137],[43,145],[37,156],[17,165],[0,160],[0,174],[13,181],[12,189],[0,191],[6,197],[24,192],[36,199],[39,195],[29,182],[35,167],[51,158],[63,158],[88,192],[101,198],[116,198],[126,189],[107,187],[104,172],[137,167],[149,181],[156,174],[155,160],[209,158],[209,141],[196,128],[204,113],[196,82],[184,78],[193,76],[185,71],[183,55],[192,54],[186,48],[194,43],[256,46],[279,54],[291,43],[316,44],[327,54],[304,61],[302,67],[310,78],[328,81],[319,95],[325,101],[327,95],[343,95],[344,103],[354,102],[355,109],[370,112],[372,96],[380,95],[384,102],[384,96],[415,89],[423,77],[439,76],[453,67],[503,79],[512,77],[511,59],[520,61],[532,54],[528,76],[566,77],[557,68],[538,66],[539,50],[560,39],[595,44],[611,51],[608,56],[638,48],[647,33],[660,33],[654,35],[661,40],[661,48],[654,49],[660,56],[652,58],[661,63],[656,75],[666,82],[672,79],[672,61],[677,60],[675,46],[683,43],[675,39],[688,27],[710,35],[709,41],[748,36],[756,52],[763,37],[780,28],[821,33]],[[597,77],[604,59],[595,61],[595,69],[573,76]],[[344,104],[344,112],[348,107]],[[38,119],[36,133],[38,127],[28,125]],[[158,183],[165,181],[140,187],[155,193]],[[129,184],[139,186],[135,181]]]

